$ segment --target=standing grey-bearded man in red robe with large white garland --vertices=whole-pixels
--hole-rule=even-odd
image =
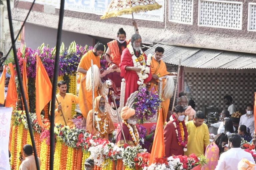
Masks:
[[[121,55],[121,77],[125,78],[125,97],[138,90],[139,85],[147,83],[151,80],[151,58],[147,58],[146,54],[141,50],[141,36],[134,34],[127,48],[123,50]]]

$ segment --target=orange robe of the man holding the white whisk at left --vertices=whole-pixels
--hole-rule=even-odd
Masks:
[[[85,70],[89,70],[89,68],[91,67],[91,59],[93,64],[96,64],[100,69],[100,57],[95,56],[92,50],[89,50],[87,53],[83,55],[78,67],[83,68]],[[92,110],[92,91],[86,90],[85,77],[86,77],[86,74],[79,73],[77,82],[80,83],[80,88],[78,91],[79,108],[82,112],[83,117],[86,119],[89,110]],[[82,90],[82,87],[84,88],[84,90]],[[97,96],[98,96],[97,89],[95,89],[94,97],[97,97]]]

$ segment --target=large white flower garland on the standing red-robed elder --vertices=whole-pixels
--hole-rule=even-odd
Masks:
[[[134,54],[134,50],[131,42],[127,45],[127,48],[132,55],[132,61],[133,61],[134,67],[139,67],[141,69],[140,72],[136,72],[137,75],[139,76],[139,80],[137,81],[137,84],[141,85],[143,84],[144,80],[148,78],[148,74],[150,73],[151,57],[148,56],[147,61],[145,61],[144,53],[141,49],[140,49],[141,55],[139,57],[136,57]]]

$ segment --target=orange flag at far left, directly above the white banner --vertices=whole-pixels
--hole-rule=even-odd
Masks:
[[[10,67],[11,78],[8,85],[5,107],[12,107],[12,106],[16,107],[18,95],[17,95],[17,88],[16,88],[16,82],[15,82],[15,76],[14,76],[14,69],[13,69],[12,63],[8,63],[8,65]]]

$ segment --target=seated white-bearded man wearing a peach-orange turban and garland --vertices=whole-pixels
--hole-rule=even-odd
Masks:
[[[123,107],[121,111],[121,123],[126,143],[130,146],[137,146],[139,144],[139,129],[136,127],[135,110],[129,107]],[[120,128],[120,124],[117,126],[116,144],[117,146],[123,146],[125,144],[124,137]]]

